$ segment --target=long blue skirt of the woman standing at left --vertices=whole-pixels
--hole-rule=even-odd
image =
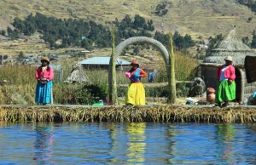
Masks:
[[[46,84],[41,84],[38,82],[36,88],[36,103],[47,104],[52,102],[52,81]]]

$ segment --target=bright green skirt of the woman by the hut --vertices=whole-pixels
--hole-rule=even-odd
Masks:
[[[236,82],[229,83],[228,80],[224,80],[219,83],[216,93],[215,102],[222,103],[224,101],[236,100]]]

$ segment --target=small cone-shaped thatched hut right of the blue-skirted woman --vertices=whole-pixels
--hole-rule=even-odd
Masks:
[[[72,66],[72,71],[64,83],[90,83],[90,80],[85,74],[83,66],[76,64]]]

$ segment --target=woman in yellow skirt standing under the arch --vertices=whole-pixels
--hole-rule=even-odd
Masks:
[[[147,77],[148,74],[139,68],[138,61],[132,61],[131,66],[131,70],[125,73],[131,81],[125,97],[125,105],[145,105],[145,89],[141,79]]]

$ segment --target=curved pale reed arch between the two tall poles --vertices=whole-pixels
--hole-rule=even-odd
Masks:
[[[128,39],[126,39],[125,41],[123,41],[122,43],[119,43],[119,45],[115,48],[114,50],[114,58],[117,59],[119,57],[119,55],[123,52],[123,50],[134,43],[150,43],[152,45],[154,45],[156,48],[158,48],[160,50],[161,56],[164,58],[165,63],[166,63],[166,72],[167,72],[167,79],[168,79],[168,88],[169,91],[171,93],[172,91],[172,86],[171,86],[171,58],[170,58],[170,54],[167,51],[166,47],[160,43],[159,41],[151,38],[151,37],[130,37]],[[111,61],[109,61],[110,65],[115,65],[112,64]],[[115,75],[115,73],[113,73],[113,70],[110,70],[108,72],[108,86],[112,87],[113,85],[113,81],[112,81],[112,77],[113,74]],[[116,84],[116,78],[115,78],[115,84]],[[111,89],[110,89],[111,90]],[[109,91],[109,94],[111,94],[112,91]],[[170,97],[170,94],[169,94]]]

